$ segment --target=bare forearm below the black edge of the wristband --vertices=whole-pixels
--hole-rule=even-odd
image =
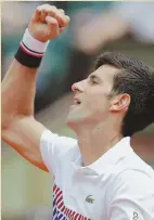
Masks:
[[[15,115],[34,114],[36,68],[28,68],[15,59],[2,81],[2,126]]]

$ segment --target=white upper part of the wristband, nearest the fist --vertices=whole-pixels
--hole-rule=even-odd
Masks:
[[[49,41],[41,42],[35,39],[28,31],[28,28],[25,30],[22,42],[31,51],[37,53],[44,53],[48,47]]]

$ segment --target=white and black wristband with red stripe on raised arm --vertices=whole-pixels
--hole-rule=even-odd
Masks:
[[[28,31],[25,30],[20,48],[15,54],[15,59],[27,67],[38,68],[44,55],[49,41],[41,42],[35,39]]]

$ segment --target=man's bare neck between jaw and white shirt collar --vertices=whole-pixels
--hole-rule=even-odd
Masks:
[[[113,124],[111,126],[81,126],[77,130],[84,166],[94,163],[123,138],[117,126]]]

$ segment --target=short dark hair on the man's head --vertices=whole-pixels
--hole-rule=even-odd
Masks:
[[[123,119],[121,134],[131,137],[154,122],[154,69],[118,52],[101,54],[94,69],[105,64],[119,68],[118,74],[114,76],[112,92],[130,95],[131,101]]]

